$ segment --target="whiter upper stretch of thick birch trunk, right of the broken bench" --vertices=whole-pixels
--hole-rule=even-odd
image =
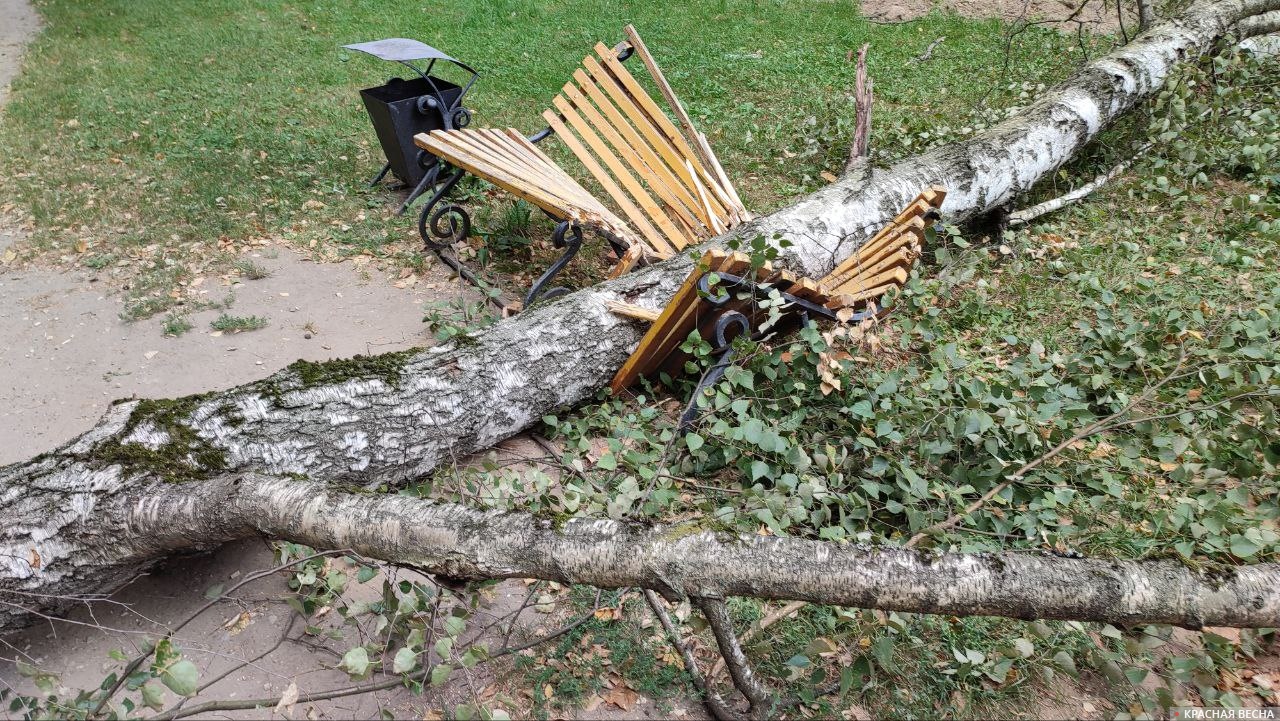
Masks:
[[[932,183],[948,191],[942,206],[948,222],[991,213],[1066,164],[1105,127],[1158,91],[1180,63],[1203,55],[1228,33],[1275,32],[1272,22],[1258,19],[1271,10],[1280,10],[1280,0],[1194,3],[1088,63],[991,129],[869,177],[846,173],[742,232],[790,238],[796,268],[818,278]]]

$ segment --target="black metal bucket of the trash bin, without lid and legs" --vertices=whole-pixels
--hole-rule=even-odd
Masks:
[[[462,97],[462,88],[457,85],[439,78],[433,79],[435,88],[431,88],[425,78],[411,81],[392,78],[387,85],[360,91],[392,173],[410,186],[419,184],[436,160],[434,155],[413,145],[413,136],[443,129],[447,124],[452,126],[435,106],[439,104],[435,95],[443,97],[444,108],[452,109],[454,114],[458,109],[453,106]]]

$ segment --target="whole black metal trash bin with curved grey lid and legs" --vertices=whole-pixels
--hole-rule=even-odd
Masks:
[[[436,166],[435,156],[413,145],[413,136],[435,129],[466,127],[471,122],[471,111],[462,106],[462,97],[480,74],[430,45],[404,37],[357,42],[343,47],[380,60],[399,63],[417,74],[413,79],[392,78],[385,85],[360,91],[360,96],[365,100],[365,110],[378,133],[378,141],[383,146],[383,154],[387,155],[387,164],[370,184],[376,184],[389,170],[402,182],[413,186],[413,192],[397,211],[404,213],[404,209],[422,195],[438,175],[433,172]],[[425,68],[419,68],[416,60],[429,60],[429,63]],[[433,76],[431,69],[436,60],[453,63],[471,73],[471,78],[465,86],[458,86]]]

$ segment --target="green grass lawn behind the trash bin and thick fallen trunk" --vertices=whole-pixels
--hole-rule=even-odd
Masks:
[[[349,54],[347,42],[436,45],[483,73],[468,96],[475,126],[531,133],[591,46],[635,23],[755,211],[842,168],[847,56],[864,42],[882,158],[975,128],[1024,90],[1004,77],[998,22],[874,24],[854,3],[37,6],[47,26],[0,126],[0,191],[35,222],[29,252],[128,278],[129,316],[166,310],[183,280],[227,268],[247,239],[421,260],[413,218],[393,216],[398,198],[365,187],[381,151],[357,91],[403,68]],[[909,61],[938,36],[929,61]],[[1070,53],[1079,56],[1075,38],[1032,28],[1011,44],[1009,76],[1057,79]],[[481,231],[493,224],[477,216]]]

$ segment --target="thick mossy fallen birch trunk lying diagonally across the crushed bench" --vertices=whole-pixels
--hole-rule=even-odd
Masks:
[[[950,188],[943,211],[951,220],[988,213],[1066,163],[1107,123],[1155,92],[1179,61],[1206,53],[1233,28],[1270,32],[1274,15],[1268,13],[1276,9],[1280,0],[1194,4],[1181,17],[1089,63],[1005,123],[869,178],[846,175],[732,236],[786,237],[794,245],[783,251],[783,261],[818,277],[928,184]],[[608,304],[660,307],[690,266],[687,257],[677,257],[532,307],[447,346],[326,364],[300,361],[265,380],[229,391],[116,403],[81,438],[0,469],[0,630],[28,610],[56,612],[69,604],[69,595],[116,588],[166,553],[210,547],[246,533],[307,539],[315,530],[308,515],[282,516],[279,523],[234,517],[227,528],[211,525],[221,517],[215,511],[224,502],[228,483],[244,487],[266,483],[264,478],[292,478],[307,489],[316,488],[312,483],[328,488],[396,485],[488,448],[548,411],[590,397],[643,334],[635,323],[611,314]],[[302,479],[308,484],[302,485]],[[175,497],[186,506],[166,506]],[[412,502],[390,497],[385,503]],[[268,514],[270,508],[261,506],[259,511]],[[387,533],[392,534],[387,548],[402,552],[388,560],[430,552],[392,543],[411,538],[401,526]],[[804,548],[814,555],[814,563],[840,552],[820,544]],[[878,553],[886,553],[884,562],[891,566],[904,558],[895,556],[899,552]],[[1055,562],[1066,563],[1044,558],[1044,567]],[[493,557],[479,567],[507,566]],[[1160,569],[1157,575],[1171,572],[1167,566]],[[536,575],[534,570],[521,567],[520,572]],[[1254,572],[1274,570],[1245,576]],[[901,583],[906,588],[914,581]],[[1208,593],[1206,583],[1188,588]],[[724,592],[746,593],[749,585]],[[818,590],[812,595],[795,598],[873,607],[900,603],[892,594],[828,595],[826,589],[814,588]],[[1280,587],[1272,583],[1268,588],[1272,595],[1258,595],[1257,602],[1260,608],[1274,611]],[[1016,606],[1002,606],[1006,601],[956,608],[1000,612]],[[1023,607],[1018,612],[1037,611]],[[1169,616],[1160,611],[1155,617]],[[1199,622],[1196,613],[1181,619]]]

